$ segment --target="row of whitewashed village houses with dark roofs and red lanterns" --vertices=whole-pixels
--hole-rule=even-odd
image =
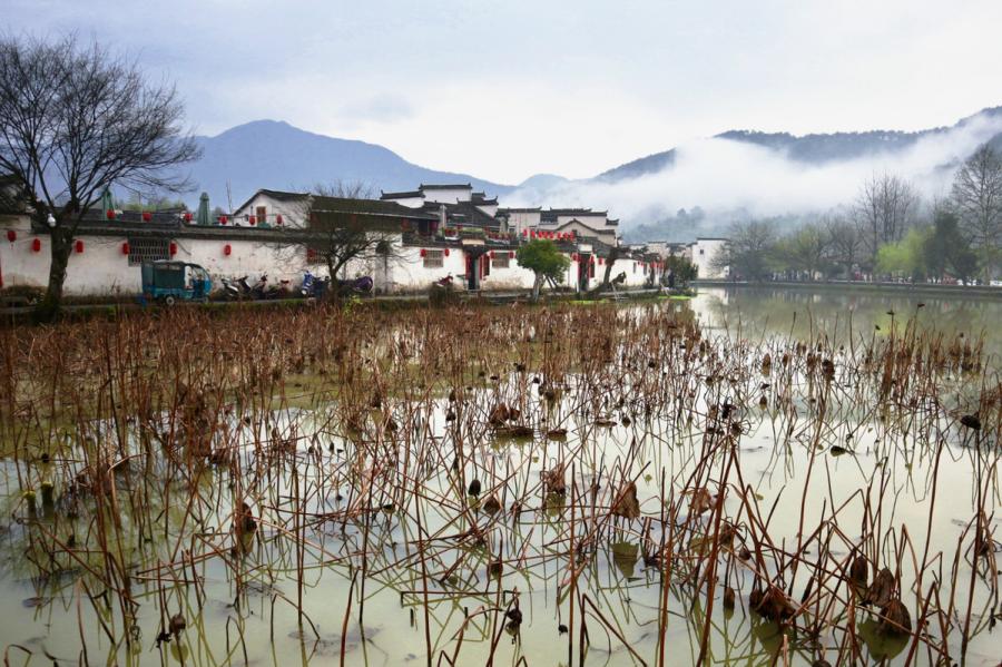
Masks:
[[[380,199],[316,197],[261,189],[234,212],[198,224],[191,213],[89,210],[77,233],[66,292],[70,295],[140,292],[139,265],[178,259],[204,266],[218,278],[267,274],[269,282],[297,286],[302,272],[326,273],[291,236],[308,230],[311,212],[351,216],[389,238],[385,256],[350,263],[338,277],[370,275],[376,290],[426,290],[446,275],[470,290],[528,290],[533,274],[515,252],[531,238],[552,239],[571,259],[564,286],[590,290],[605,274],[618,220],[590,209],[501,208],[497,198],[465,185],[421,185]],[[43,287],[49,268],[48,228],[27,210],[0,212],[0,287]],[[660,259],[622,253],[611,275],[625,286],[657,279]]]

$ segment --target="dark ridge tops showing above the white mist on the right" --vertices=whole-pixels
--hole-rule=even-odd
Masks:
[[[992,107],[962,119],[953,127],[904,133],[896,130],[871,130],[862,133],[833,133],[795,136],[788,133],[760,133],[754,130],[728,130],[715,135],[717,139],[729,139],[745,144],[754,144],[763,148],[782,151],[792,160],[808,165],[824,165],[839,160],[878,156],[895,153],[913,146],[920,139],[959,129],[975,119],[1002,118],[1002,107]],[[1002,147],[1002,134],[991,140],[993,146]],[[676,149],[655,153],[599,174],[596,179],[616,183],[637,178],[647,174],[656,174],[675,165]]]

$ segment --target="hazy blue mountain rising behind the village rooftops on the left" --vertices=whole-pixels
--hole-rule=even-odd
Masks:
[[[287,122],[255,120],[215,137],[197,137],[202,159],[189,166],[197,189],[189,205],[207,192],[213,206],[238,206],[258,188],[301,190],[335,180],[371,185],[379,190],[412,190],[422,183],[470,183],[488,195],[504,195],[512,186],[468,174],[436,171],[409,163],[389,148],[365,141],[308,133]]]

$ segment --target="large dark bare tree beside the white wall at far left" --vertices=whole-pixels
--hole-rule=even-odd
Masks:
[[[187,186],[174,168],[198,148],[181,120],[173,87],[148,85],[97,43],[0,39],[0,171],[52,236],[40,314],[58,311],[77,227],[106,187]]]

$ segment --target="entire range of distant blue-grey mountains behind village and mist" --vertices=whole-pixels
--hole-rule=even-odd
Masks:
[[[893,154],[914,146],[924,137],[960,128],[974,119],[1002,121],[1002,107],[984,109],[952,127],[904,133],[874,130],[794,136],[787,133],[728,130],[715,138],[753,144],[808,165],[824,165],[866,156]],[[568,180],[553,174],[538,174],[519,185],[505,185],[469,174],[439,171],[407,161],[389,148],[364,141],[340,139],[308,133],[287,122],[255,120],[228,129],[215,137],[197,137],[203,157],[190,165],[198,193],[208,192],[214,206],[243,203],[257,188],[305,189],[335,180],[360,182],[379,190],[411,190],[424,183],[470,183],[488,196],[515,194],[520,202],[561,206],[557,200],[568,186],[617,184],[670,169],[676,164],[675,148],[655,153],[608,169],[593,178]],[[992,139],[1002,149],[1002,134]],[[551,200],[552,199],[552,200]],[[605,208],[603,202],[590,203]],[[629,227],[630,220],[625,220]],[[650,222],[650,220],[647,220]]]

